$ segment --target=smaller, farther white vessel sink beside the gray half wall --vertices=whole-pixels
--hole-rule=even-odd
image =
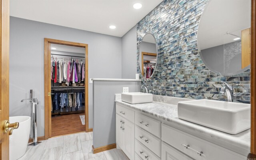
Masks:
[[[153,94],[142,92],[122,93],[121,100],[130,104],[153,102]]]

